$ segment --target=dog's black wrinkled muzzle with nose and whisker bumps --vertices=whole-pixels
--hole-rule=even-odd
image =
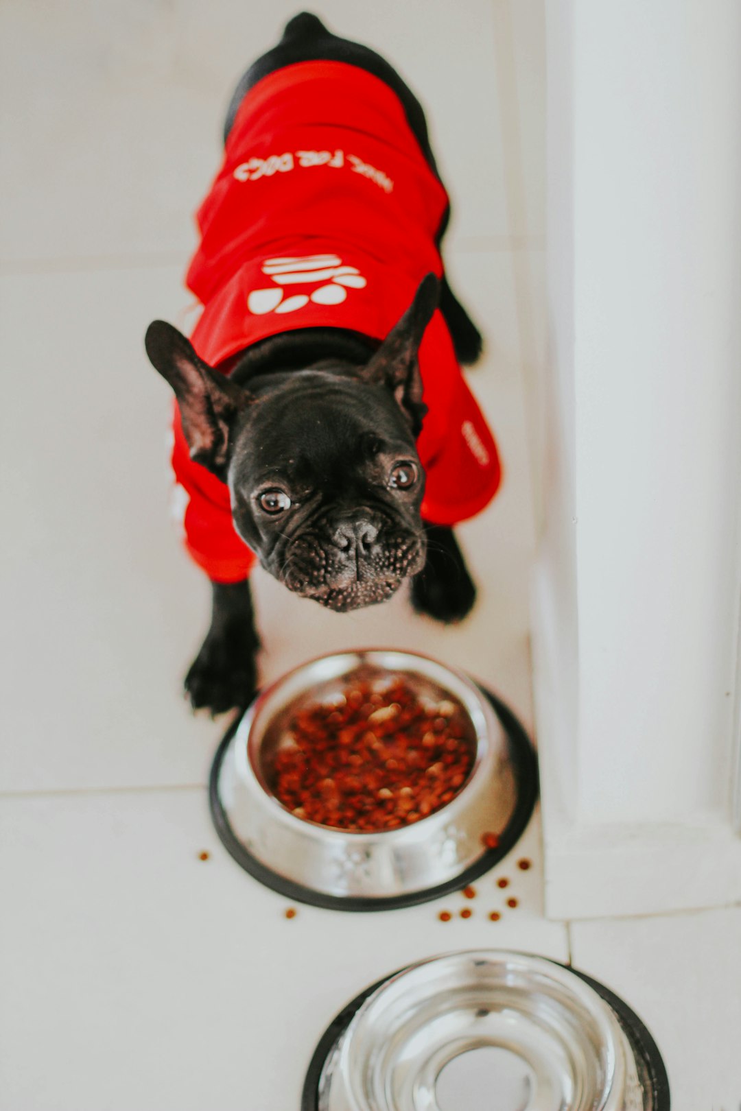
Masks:
[[[286,551],[282,580],[289,590],[344,613],[385,601],[424,563],[424,539],[410,529],[389,530],[369,519],[333,522],[307,531]]]

